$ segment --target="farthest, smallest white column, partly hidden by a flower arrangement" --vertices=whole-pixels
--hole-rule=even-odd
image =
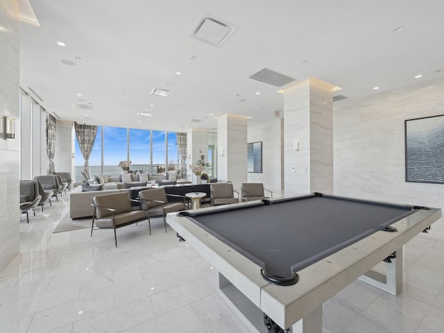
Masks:
[[[187,176],[188,180],[193,180],[193,173],[189,165],[200,160],[200,155],[205,155],[208,162],[208,133],[203,128],[190,128],[187,130]],[[204,171],[205,172],[205,171]]]

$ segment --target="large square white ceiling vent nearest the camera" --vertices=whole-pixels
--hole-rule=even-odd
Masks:
[[[221,46],[235,31],[237,28],[232,24],[205,13],[191,32],[190,37],[206,44]]]

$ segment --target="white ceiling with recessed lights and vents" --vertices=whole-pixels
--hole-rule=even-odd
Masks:
[[[226,113],[271,121],[275,110],[282,117],[283,95],[249,78],[264,67],[320,78],[349,99],[444,76],[443,0],[30,3],[40,28],[20,24],[22,88],[79,123],[183,132],[214,128]],[[189,37],[205,13],[237,28],[219,47]],[[174,94],[153,96],[154,88]]]

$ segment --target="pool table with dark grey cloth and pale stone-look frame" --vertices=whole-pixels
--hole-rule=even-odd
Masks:
[[[322,303],[357,278],[397,294],[402,246],[440,217],[316,193],[171,213],[167,223],[219,271],[221,295],[250,330],[321,333]],[[371,271],[382,260],[386,275]]]

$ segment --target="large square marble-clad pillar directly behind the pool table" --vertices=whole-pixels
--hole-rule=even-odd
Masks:
[[[333,193],[333,88],[309,78],[284,89],[284,193]]]

